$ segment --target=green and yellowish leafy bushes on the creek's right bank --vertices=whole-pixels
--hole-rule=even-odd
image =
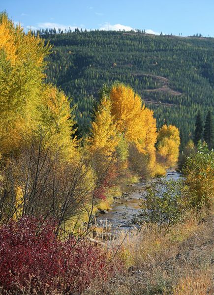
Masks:
[[[198,149],[186,148],[183,176],[177,181],[153,181],[140,203],[141,212],[134,216],[137,223],[156,224],[167,232],[183,222],[191,211],[212,209],[214,204],[214,151],[199,142]]]

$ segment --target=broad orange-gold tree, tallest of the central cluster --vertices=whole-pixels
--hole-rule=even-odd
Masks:
[[[113,85],[110,91],[112,102],[112,115],[116,128],[129,143],[131,166],[138,166],[140,162],[145,165],[136,169],[152,172],[155,163],[156,120],[153,111],[145,108],[142,100],[133,89],[123,84]],[[145,159],[144,156],[145,155]],[[145,164],[144,163],[144,164]],[[144,174],[143,171],[140,172]]]

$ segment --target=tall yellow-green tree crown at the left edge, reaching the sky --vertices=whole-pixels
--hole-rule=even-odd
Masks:
[[[0,14],[0,151],[18,148],[37,125],[50,46]]]

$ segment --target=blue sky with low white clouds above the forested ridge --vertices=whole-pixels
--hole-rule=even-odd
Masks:
[[[214,37],[214,0],[0,0],[25,29],[146,29]]]

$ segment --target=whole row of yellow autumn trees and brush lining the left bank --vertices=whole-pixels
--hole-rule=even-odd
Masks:
[[[77,140],[70,101],[44,83],[49,50],[0,14],[0,177],[8,190],[2,210],[5,204],[10,216],[43,210],[61,223],[87,211],[90,219],[89,204],[105,199],[109,187],[174,166],[179,131],[164,125],[157,132],[153,111],[116,82],[102,89],[91,131]]]

